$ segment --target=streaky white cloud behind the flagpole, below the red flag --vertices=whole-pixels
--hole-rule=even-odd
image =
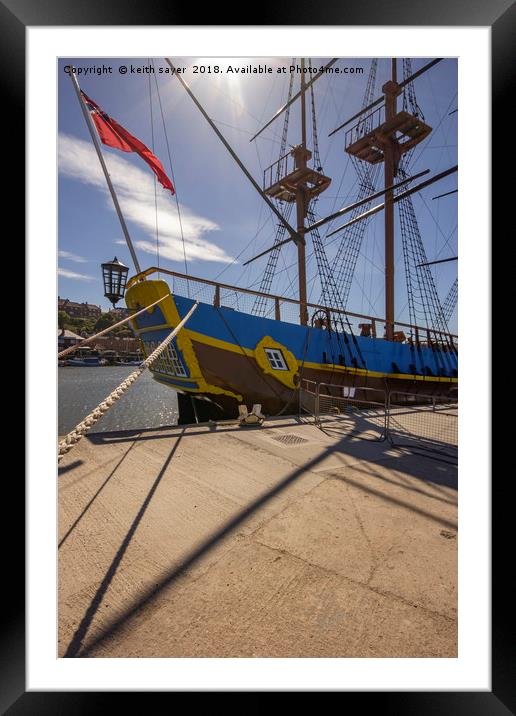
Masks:
[[[125,218],[139,226],[149,237],[135,241],[141,251],[156,253],[156,210],[154,206],[154,176],[148,169],[139,169],[123,157],[105,153],[106,164],[115,185]],[[111,203],[106,181],[94,148],[88,142],[67,134],[59,135],[59,171],[100,189]],[[183,261],[183,242],[175,200],[157,185],[158,228],[160,255],[172,261]],[[189,261],[217,261],[230,263],[233,259],[224,249],[204,238],[219,226],[211,219],[195,214],[180,204],[184,250]]]

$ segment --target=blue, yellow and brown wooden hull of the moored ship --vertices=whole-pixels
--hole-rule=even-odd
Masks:
[[[132,322],[149,355],[194,303],[161,280],[133,283],[130,308],[158,306]],[[415,345],[345,331],[272,320],[200,303],[168,352],[152,367],[156,380],[178,392],[208,398],[235,417],[240,403],[260,403],[268,415],[299,404],[302,380],[343,387],[446,395],[457,390],[454,346]],[[371,393],[368,394],[371,396]]]

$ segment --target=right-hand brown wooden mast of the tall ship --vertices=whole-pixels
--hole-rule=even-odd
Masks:
[[[382,87],[385,95],[385,121],[392,120],[397,113],[396,98],[400,93],[400,86],[396,77],[396,59],[391,61],[392,76],[389,82]],[[394,177],[398,170],[399,150],[398,143],[393,137],[387,137],[384,147],[384,181],[385,186],[394,184]],[[392,189],[385,193],[385,338],[392,341],[394,338],[394,193]]]

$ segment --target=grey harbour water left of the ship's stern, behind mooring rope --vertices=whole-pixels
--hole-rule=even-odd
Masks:
[[[135,370],[134,366],[58,368],[58,433],[65,435]],[[146,370],[92,432],[176,425],[177,396]]]

